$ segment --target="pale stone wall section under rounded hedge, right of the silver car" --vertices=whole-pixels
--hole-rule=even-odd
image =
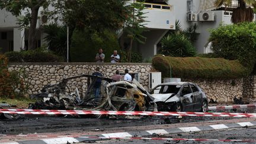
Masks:
[[[207,97],[217,102],[232,102],[243,95],[243,78],[239,79],[185,79],[199,85]]]

